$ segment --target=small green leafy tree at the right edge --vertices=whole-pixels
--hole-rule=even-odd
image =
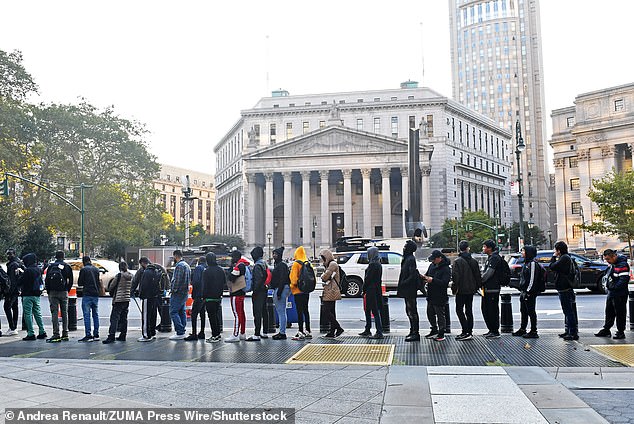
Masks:
[[[599,207],[599,220],[582,228],[617,236],[631,246],[634,238],[634,171],[617,172],[613,168],[605,177],[592,180],[588,197]]]

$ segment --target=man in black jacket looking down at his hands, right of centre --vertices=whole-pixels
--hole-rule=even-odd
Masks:
[[[445,340],[445,305],[447,305],[447,288],[451,279],[449,259],[440,250],[431,252],[428,260],[431,262],[423,280],[427,284],[427,319],[431,331],[426,339],[437,342]]]

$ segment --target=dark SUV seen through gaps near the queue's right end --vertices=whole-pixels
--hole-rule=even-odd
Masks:
[[[550,258],[554,254],[553,250],[539,250],[537,252],[537,261],[546,269],[548,278],[546,280],[546,289],[555,288],[555,277],[549,270]],[[608,264],[604,262],[591,261],[585,256],[578,255],[576,253],[569,253],[570,257],[577,262],[579,270],[581,271],[581,280],[576,282],[575,289],[590,289],[596,293],[606,293],[607,288],[604,287],[602,277],[605,270],[608,268]],[[509,268],[511,269],[511,287],[519,287],[519,273],[522,265],[524,264],[524,258],[519,253],[513,253],[507,258]]]

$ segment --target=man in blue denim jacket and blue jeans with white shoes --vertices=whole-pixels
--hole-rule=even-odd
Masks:
[[[191,268],[183,260],[183,252],[180,249],[174,250],[174,274],[172,275],[171,296],[170,296],[170,316],[174,323],[176,334],[172,334],[170,340],[183,340],[185,338],[185,328],[187,328],[187,314],[185,305],[189,295],[189,284],[191,283]]]

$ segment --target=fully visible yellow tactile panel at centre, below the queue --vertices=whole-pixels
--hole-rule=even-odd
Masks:
[[[390,365],[394,345],[308,344],[286,361],[287,364]]]

